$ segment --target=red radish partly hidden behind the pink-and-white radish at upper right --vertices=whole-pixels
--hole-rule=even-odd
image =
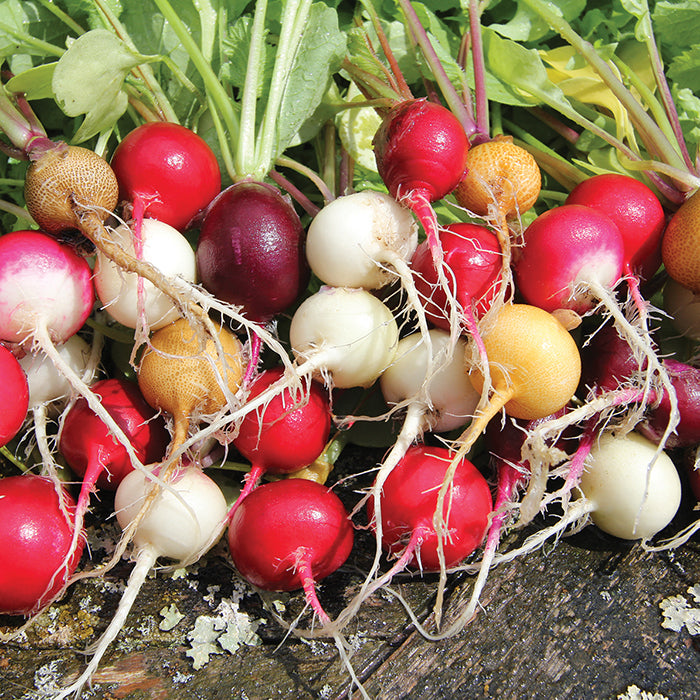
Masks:
[[[632,272],[650,279],[661,265],[666,213],[651,188],[629,175],[603,173],[574,187],[567,204],[597,209],[617,225]]]

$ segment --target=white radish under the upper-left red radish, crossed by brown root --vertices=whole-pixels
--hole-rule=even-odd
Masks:
[[[112,231],[112,239],[127,254],[153,265],[163,275],[195,282],[194,250],[188,240],[169,224],[145,219],[141,224],[138,254],[134,232],[126,224]],[[129,328],[143,325],[158,330],[178,318],[179,312],[171,297],[152,282],[133,272],[125,272],[101,251],[97,253],[94,271],[95,291],[102,306],[122,325]]]

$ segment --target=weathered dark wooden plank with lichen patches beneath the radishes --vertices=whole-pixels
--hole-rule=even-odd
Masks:
[[[680,517],[693,516],[686,507]],[[517,537],[511,535],[506,544]],[[361,580],[354,567],[361,568],[369,556],[367,538],[358,537],[348,566],[321,585],[319,596],[331,616]],[[116,589],[130,568],[123,561],[104,581],[76,584],[42,614],[25,640],[0,645],[0,700],[46,698],[41,689],[51,679],[67,682],[77,675],[81,652],[104,630],[119,600]],[[630,686],[670,699],[698,698],[700,637],[663,628],[659,607],[674,595],[692,601],[687,589],[694,584],[700,584],[697,536],[672,554],[652,553],[586,528],[495,568],[483,609],[453,639],[427,641],[388,594],[368,601],[346,636],[356,647],[353,667],[372,698],[606,699]],[[447,618],[460,609],[472,585],[473,578],[464,574],[450,579]],[[425,618],[435,579],[401,577],[395,588]],[[222,599],[237,594],[243,596],[240,611],[266,621],[258,628],[261,644],[234,653],[219,648],[222,653],[194,670],[187,651],[195,620],[215,615]],[[285,620],[302,610],[298,594],[277,598],[284,603]],[[160,630],[159,612],[171,603],[184,617],[172,630]],[[0,629],[10,631],[20,622],[0,617]],[[184,578],[161,572],[146,581],[126,629],[94,677],[93,690],[83,697],[343,698],[348,687],[333,644],[285,638],[258,594],[237,579],[221,546]]]

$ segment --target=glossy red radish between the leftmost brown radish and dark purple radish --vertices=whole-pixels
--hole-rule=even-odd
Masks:
[[[129,132],[112,154],[122,201],[143,200],[146,216],[184,231],[221,191],[216,155],[194,131],[149,122]]]

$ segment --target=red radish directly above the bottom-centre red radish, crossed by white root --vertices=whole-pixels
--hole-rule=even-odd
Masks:
[[[263,371],[253,383],[249,399],[278,381],[284,369]],[[331,429],[328,394],[317,382],[309,387],[308,401],[290,410],[294,397],[288,389],[278,393],[260,411],[241,421],[234,447],[251,464],[271,474],[297,471],[311,464],[325,449]]]

